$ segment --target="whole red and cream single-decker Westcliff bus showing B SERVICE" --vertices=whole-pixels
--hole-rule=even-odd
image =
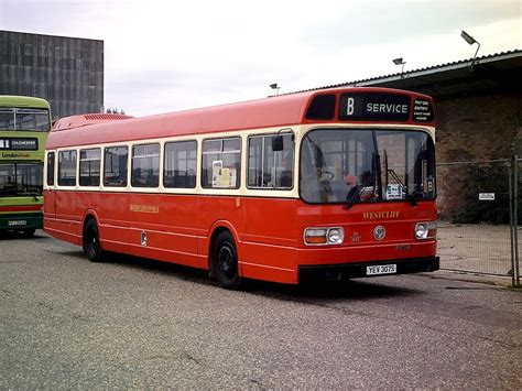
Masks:
[[[431,97],[338,88],[143,118],[61,119],[44,229],[119,252],[298,283],[438,270]]]

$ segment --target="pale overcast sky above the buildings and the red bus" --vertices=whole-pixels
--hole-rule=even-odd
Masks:
[[[520,0],[0,0],[0,30],[105,42],[105,106],[145,116],[522,48]]]

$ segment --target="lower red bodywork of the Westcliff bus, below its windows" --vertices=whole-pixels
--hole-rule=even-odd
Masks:
[[[436,252],[436,240],[416,240],[415,224],[436,220],[433,202],[412,207],[406,202],[365,205],[315,206],[298,199],[209,197],[139,193],[58,193],[55,218],[45,214],[45,230],[81,246],[84,217],[93,214],[105,250],[208,269],[210,236],[215,227],[232,232],[242,276],[284,283],[298,282],[300,265],[345,264],[427,258]],[[129,205],[150,205],[154,211],[132,211]],[[367,219],[365,213],[393,210],[395,218]],[[385,215],[385,214],[384,214]],[[224,216],[227,216],[225,218]],[[248,216],[248,219],[244,218]],[[387,237],[373,238],[382,225]],[[306,227],[342,227],[339,246],[308,247]],[[148,245],[141,246],[146,231]]]

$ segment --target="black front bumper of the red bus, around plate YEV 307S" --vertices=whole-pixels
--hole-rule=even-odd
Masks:
[[[393,274],[368,275],[367,267],[396,264],[396,272]],[[395,275],[407,273],[434,272],[441,269],[439,258],[416,258],[416,259],[396,259],[387,261],[371,261],[341,264],[322,264],[322,265],[300,265],[298,279],[301,281],[309,280],[342,280],[358,279],[368,276]]]

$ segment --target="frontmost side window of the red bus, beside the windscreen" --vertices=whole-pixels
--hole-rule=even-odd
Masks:
[[[248,144],[248,187],[249,188],[292,188],[294,177],[293,134],[283,135],[283,150],[272,150],[271,135],[249,138]]]

